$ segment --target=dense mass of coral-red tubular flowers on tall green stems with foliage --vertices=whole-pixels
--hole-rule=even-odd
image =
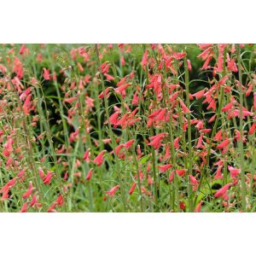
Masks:
[[[1,212],[255,212],[254,44],[0,45]]]

